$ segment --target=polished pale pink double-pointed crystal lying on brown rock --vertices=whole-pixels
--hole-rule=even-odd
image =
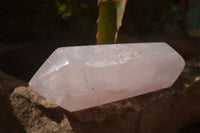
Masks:
[[[184,65],[166,43],[63,47],[29,84],[53,103],[77,111],[170,87]]]

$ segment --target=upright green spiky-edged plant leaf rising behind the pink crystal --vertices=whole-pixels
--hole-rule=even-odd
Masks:
[[[117,40],[127,0],[99,0],[97,44],[111,44]]]

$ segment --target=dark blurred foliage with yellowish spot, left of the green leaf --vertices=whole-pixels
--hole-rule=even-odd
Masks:
[[[0,15],[0,39],[54,38],[96,32],[98,8],[88,0],[1,0]]]

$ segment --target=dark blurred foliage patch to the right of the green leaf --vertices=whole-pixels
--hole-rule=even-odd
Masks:
[[[182,30],[180,6],[180,0],[128,1],[123,28],[136,34]]]

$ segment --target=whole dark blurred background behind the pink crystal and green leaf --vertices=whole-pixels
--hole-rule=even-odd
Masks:
[[[200,52],[199,0],[128,0],[118,43],[165,41]],[[53,50],[96,44],[97,0],[1,0],[0,69],[29,81]]]

